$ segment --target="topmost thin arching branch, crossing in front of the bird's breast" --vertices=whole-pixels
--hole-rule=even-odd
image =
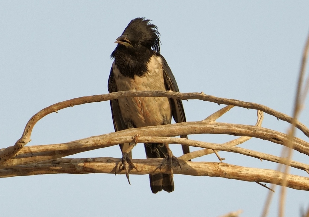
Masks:
[[[117,98],[123,98],[123,97],[168,97],[168,98],[177,98],[177,99],[200,99],[203,101],[209,101],[209,102],[215,102],[219,104],[226,104],[226,105],[233,105],[233,106],[239,106],[243,108],[251,108],[256,110],[261,110],[266,112],[269,115],[273,115],[277,117],[278,119],[287,121],[288,123],[291,123],[292,118],[288,115],[285,115],[281,112],[277,112],[267,106],[263,106],[257,103],[252,102],[243,102],[235,99],[226,99],[226,98],[219,98],[214,97],[210,95],[206,95],[203,92],[202,93],[179,93],[179,92],[173,92],[173,91],[118,91],[115,93],[110,94],[102,94],[102,95],[94,95],[94,96],[87,96],[87,97],[80,97],[80,98],[74,98],[63,102],[58,102],[56,104],[53,104],[49,107],[46,107],[36,113],[32,116],[32,118],[28,121],[26,124],[26,127],[24,129],[23,135],[21,138],[15,143],[14,146],[10,146],[0,152],[0,163],[7,161],[11,158],[13,158],[21,148],[23,148],[29,141],[32,129],[34,125],[42,119],[44,116],[57,112],[61,109],[85,104],[85,103],[91,103],[91,102],[101,102],[101,101],[107,101],[111,99],[117,99]],[[296,127],[298,127],[301,131],[305,133],[306,136],[309,137],[309,129],[300,123],[299,121],[296,121]]]

